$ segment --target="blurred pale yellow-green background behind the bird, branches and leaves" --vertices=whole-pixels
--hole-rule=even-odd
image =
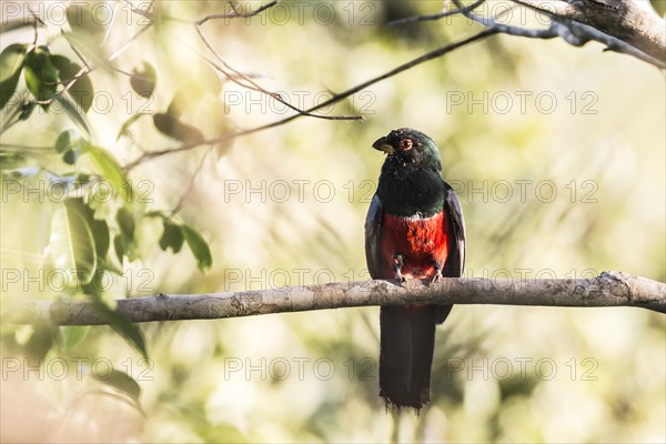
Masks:
[[[498,12],[493,10],[498,3],[490,2],[486,11]],[[121,7],[115,4],[119,17],[109,24],[107,54],[141,27]],[[440,8],[430,1],[285,1],[253,18],[211,20],[201,30],[224,62],[309,108],[330,91],[481,30],[461,18],[386,26]],[[140,150],[178,147],[150,119],[134,123],[131,138],[117,141],[117,135],[131,113],[163,111],[178,88],[205,79],[201,56],[215,58],[185,21],[231,9],[226,2],[169,1],[157,2],[154,11],[157,24],[113,62],[123,71],[152,63],[154,97],[132,94],[118,72],[91,74],[95,91],[111,98],[109,105],[100,99],[88,114],[94,140],[121,164]],[[538,24],[529,12],[513,13],[513,22]],[[50,23],[40,30],[40,41],[53,39],[52,52],[71,53],[59,32]],[[2,47],[32,37],[31,29],[7,33]],[[304,117],[216,147],[179,213],[209,241],[212,269],[199,271],[188,251],[163,252],[160,224],[144,219],[137,228],[140,259],[124,261],[109,296],[367,279],[363,223],[383,161],[371,144],[401,127],[427,133],[441,148],[443,175],[458,192],[466,219],[467,276],[585,278],[618,270],[666,281],[664,75],[602,49],[493,37],[324,111],[360,113],[363,121]],[[184,117],[206,137],[291,113],[230,81],[216,99],[224,101],[224,112],[211,112],[209,97]],[[51,145],[69,128],[65,115],[41,113],[12,127],[1,141]],[[147,186],[148,210],[176,206],[204,151],[160,157],[130,171],[135,184]],[[59,158],[37,158],[40,165],[63,171]],[[39,275],[50,254],[51,215],[49,202],[3,194],[3,270]],[[44,290],[22,279],[3,282],[2,301],[11,297],[56,294],[48,283]],[[387,413],[377,395],[376,307],[151,323],[141,330],[150,365],[108,327],[92,327],[81,344],[57,344],[41,371],[26,373],[21,346],[34,329],[4,322],[2,436],[30,442],[666,440],[666,323],[647,311],[457,306],[437,330],[433,402],[420,416]],[[57,359],[69,369],[62,381],[49,367]],[[14,360],[20,367],[10,371]],[[87,360],[79,361],[81,372],[72,360]],[[103,372],[107,363],[139,382],[142,411],[87,376]]]

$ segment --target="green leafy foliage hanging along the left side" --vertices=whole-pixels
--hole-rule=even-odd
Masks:
[[[40,152],[40,155],[22,153],[23,150],[30,149],[30,143],[26,143],[26,147],[19,145],[18,151],[3,149],[2,158],[11,160],[2,163],[3,188],[39,188],[44,186],[46,181],[46,190],[57,193],[50,194],[47,204],[42,205],[44,215],[51,218],[49,241],[44,245],[50,251],[50,258],[44,261],[43,266],[62,271],[65,285],[59,294],[44,296],[65,300],[81,295],[88,297],[94,302],[92,306],[108,320],[109,325],[148,359],[143,333],[114,311],[112,301],[104,297],[101,280],[122,276],[124,261],[135,261],[140,258],[134,234],[135,226],[145,218],[163,220],[162,239],[167,240],[160,242],[163,251],[172,248],[173,252],[178,253],[182,240],[185,240],[202,271],[212,266],[212,256],[204,238],[195,229],[175,222],[174,215],[169,211],[149,211],[148,202],[138,198],[138,190],[132,184],[128,169],[121,167],[109,148],[93,142],[94,129],[91,128],[88,113],[95,90],[90,74],[94,69],[102,69],[109,73],[115,69],[101,56],[101,43],[107,29],[94,17],[95,4],[99,6],[83,3],[68,7],[67,22],[70,31],[62,32],[60,40],[65,39],[69,51],[52,53],[50,47],[58,47],[59,42],[58,38],[53,38],[48,39],[47,44],[11,43],[0,53],[2,132],[8,132],[16,125],[14,133],[27,134],[28,125],[38,120],[32,114],[36,105],[44,112],[50,112],[49,117],[53,117],[54,121],[64,124],[65,128],[70,127],[60,132],[50,148]],[[40,32],[36,27],[34,41]],[[72,58],[78,58],[85,68]],[[21,79],[23,83],[19,82]],[[141,98],[151,99],[157,79],[154,67],[142,61],[130,75],[130,85]],[[22,91],[23,88],[26,92]],[[60,107],[57,109],[57,105]],[[59,115],[63,111],[69,122]],[[141,114],[134,113],[130,121],[139,117]],[[167,118],[167,122],[161,118]],[[157,113],[154,122],[157,131],[176,140],[203,140],[196,128],[180,122],[176,117]],[[123,127],[119,137],[128,134],[128,127],[129,124]],[[170,241],[174,232],[181,239],[178,248]],[[57,345],[57,341],[44,336],[43,332],[43,329],[36,327],[28,340],[29,345],[33,344],[29,349],[39,350],[39,357],[47,355],[51,346]],[[62,336],[60,345],[64,350],[71,347],[72,343],[83,341],[89,330],[80,329],[77,332],[75,341],[71,334]],[[34,345],[36,342],[41,345]],[[122,377],[113,377],[108,383],[119,385],[120,380]],[[129,384],[130,389],[125,391],[138,397],[139,385],[131,377],[127,380],[124,386]]]

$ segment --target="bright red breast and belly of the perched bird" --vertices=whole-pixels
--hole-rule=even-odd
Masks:
[[[448,216],[441,211],[430,218],[382,215],[380,254],[384,258],[382,276],[393,279],[393,254],[403,256],[405,278],[428,279],[435,275],[435,261],[444,265],[454,242]]]

